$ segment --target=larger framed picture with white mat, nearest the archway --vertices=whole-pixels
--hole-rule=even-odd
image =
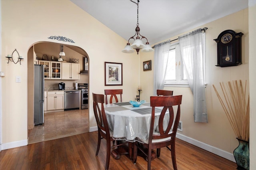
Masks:
[[[123,85],[123,63],[105,62],[105,86]]]

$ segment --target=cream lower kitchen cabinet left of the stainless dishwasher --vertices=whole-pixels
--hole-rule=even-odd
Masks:
[[[64,109],[64,91],[47,92],[47,110]]]

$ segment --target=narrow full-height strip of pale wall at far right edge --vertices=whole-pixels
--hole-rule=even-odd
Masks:
[[[256,63],[256,0],[249,0],[249,62]],[[256,169],[256,67],[250,65],[249,78],[250,78],[250,169]]]

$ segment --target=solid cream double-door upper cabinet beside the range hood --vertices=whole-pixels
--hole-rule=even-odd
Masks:
[[[80,64],[78,63],[62,63],[62,79],[79,80]]]

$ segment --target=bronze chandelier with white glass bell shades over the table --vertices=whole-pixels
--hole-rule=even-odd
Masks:
[[[130,0],[132,1],[132,0]],[[140,27],[139,27],[139,0],[138,0],[138,3],[132,1],[134,4],[137,4],[137,26],[136,26],[136,29],[135,29],[135,35],[137,35],[136,37],[136,40],[134,39],[134,36],[132,36],[131,38],[129,38],[128,40],[128,43],[126,44],[126,46],[124,47],[124,49],[122,50],[123,53],[133,53],[134,49],[136,49],[137,51],[137,54],[139,54],[139,51],[140,49],[142,49],[141,51],[142,52],[151,52],[151,51],[154,51],[154,49],[152,49],[152,47],[149,45],[149,42],[148,42],[148,39],[142,35],[140,35]],[[141,38],[140,38],[140,36]],[[147,40],[146,44],[144,45],[143,42],[142,42],[142,38],[145,38]],[[134,42],[132,45],[130,45],[129,41],[130,39],[133,39]]]

